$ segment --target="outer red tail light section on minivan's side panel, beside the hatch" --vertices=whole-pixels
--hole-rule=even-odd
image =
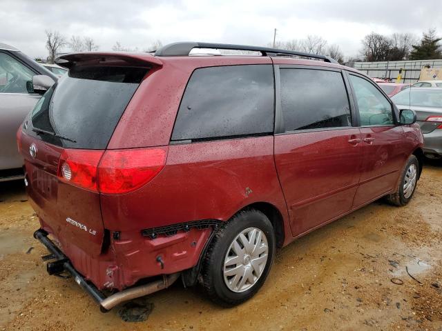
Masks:
[[[121,194],[151,181],[166,164],[166,148],[106,150],[99,163],[99,192]]]

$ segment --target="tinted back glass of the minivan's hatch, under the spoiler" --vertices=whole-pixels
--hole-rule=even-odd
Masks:
[[[104,149],[147,68],[73,67],[35,105],[33,128],[66,148]]]

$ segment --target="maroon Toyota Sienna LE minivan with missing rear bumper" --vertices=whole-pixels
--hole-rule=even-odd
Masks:
[[[17,132],[35,238],[104,311],[179,278],[242,303],[276,248],[381,197],[405,205],[421,174],[414,112],[321,55],[173,43],[57,63]]]

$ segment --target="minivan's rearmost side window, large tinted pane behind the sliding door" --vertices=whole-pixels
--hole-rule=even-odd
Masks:
[[[273,132],[273,99],[269,65],[197,69],[184,92],[172,140]]]

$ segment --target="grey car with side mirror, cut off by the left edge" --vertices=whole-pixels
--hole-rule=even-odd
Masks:
[[[23,178],[23,157],[17,151],[15,134],[56,80],[55,74],[17,48],[0,43],[0,181]]]

